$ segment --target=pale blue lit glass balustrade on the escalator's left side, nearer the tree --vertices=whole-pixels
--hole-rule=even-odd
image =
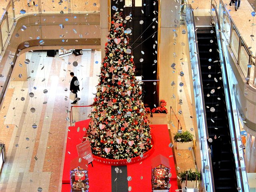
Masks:
[[[202,87],[202,77],[200,71],[200,60],[198,55],[198,44],[196,34],[196,23],[194,19],[194,9],[191,5],[186,8],[186,25],[188,28],[188,40],[190,46],[190,63],[192,68],[192,78],[196,106],[196,120],[198,127],[198,143],[200,146],[200,156],[202,160],[202,183],[208,192],[215,192],[212,173],[212,160],[208,151],[208,128],[206,123],[206,110],[204,106],[204,92]]]

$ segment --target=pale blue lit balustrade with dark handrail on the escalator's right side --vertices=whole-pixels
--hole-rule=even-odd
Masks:
[[[220,64],[222,69],[222,79],[224,83],[224,92],[225,92],[225,98],[226,98],[228,120],[230,125],[230,136],[232,138],[231,143],[233,147],[234,160],[236,163],[237,184],[238,184],[238,189],[240,188],[242,192],[249,192],[248,179],[247,179],[247,174],[245,171],[245,163],[243,159],[244,153],[243,153],[243,150],[240,148],[240,146],[242,145],[242,140],[240,135],[240,125],[239,125],[238,114],[237,114],[238,110],[235,102],[236,99],[235,99],[234,92],[232,91],[232,87],[230,87],[230,84],[231,85],[233,84],[232,76],[230,75],[230,73],[228,73],[228,70],[227,70],[228,66],[230,66],[229,60],[227,57],[228,50],[226,47],[228,45],[225,46],[223,43],[223,42],[227,42],[227,38],[226,36],[222,36],[222,33],[224,33],[220,27],[220,12],[222,10],[220,8],[218,13],[218,9],[216,8],[217,6],[218,4],[216,4],[216,2],[215,4],[214,3],[211,4],[211,16],[212,16],[212,20],[215,22],[215,25],[216,25],[218,48],[220,50]],[[221,3],[220,3],[220,6],[221,6]]]

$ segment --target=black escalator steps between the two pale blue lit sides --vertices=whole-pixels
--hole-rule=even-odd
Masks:
[[[213,140],[208,144],[213,153],[212,170],[215,191],[237,192],[236,164],[232,150],[215,28],[198,28],[197,40],[208,135]],[[216,140],[215,135],[218,137]]]

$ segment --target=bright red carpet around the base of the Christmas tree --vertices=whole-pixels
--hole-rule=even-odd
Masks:
[[[74,127],[69,127],[66,154],[64,160],[64,170],[62,177],[62,192],[70,191],[68,187],[70,183],[70,161],[78,156],[76,145],[79,144],[84,136],[83,128],[87,127],[89,120],[76,122]],[[77,128],[80,127],[80,131],[77,132]],[[156,149],[154,153],[142,161],[142,163],[132,164],[127,166],[128,176],[132,176],[132,180],[128,182],[128,186],[132,187],[132,192],[151,192],[151,159],[158,154],[162,154],[169,158],[172,155],[172,149],[168,147],[170,143],[169,132],[167,125],[152,125],[152,133],[156,138]],[[69,139],[70,138],[70,139]],[[79,139],[80,138],[80,139]],[[70,154],[68,153],[70,152]],[[169,158],[171,166],[171,188],[170,192],[174,192],[178,189],[176,171],[174,166],[173,157]],[[111,166],[99,164],[93,162],[93,166],[89,164],[89,191],[90,192],[111,192]],[[143,179],[141,180],[141,176]]]

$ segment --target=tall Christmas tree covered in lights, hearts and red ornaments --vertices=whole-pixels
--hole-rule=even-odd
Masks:
[[[142,90],[134,75],[127,36],[130,29],[124,27],[121,14],[116,12],[87,130],[92,153],[108,159],[133,158],[152,147]]]

